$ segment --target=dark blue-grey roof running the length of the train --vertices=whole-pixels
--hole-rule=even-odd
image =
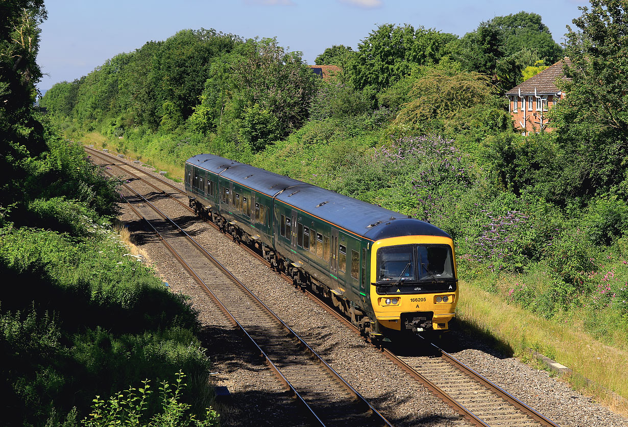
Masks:
[[[372,241],[403,235],[450,237],[434,225],[399,212],[214,154],[197,154],[186,163],[276,197],[281,202]]]

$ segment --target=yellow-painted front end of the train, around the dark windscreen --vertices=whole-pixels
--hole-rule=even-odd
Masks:
[[[377,279],[377,251],[382,247],[399,246],[408,244],[447,244],[452,248],[454,274],[456,273],[455,252],[453,241],[448,237],[432,235],[411,235],[403,237],[391,237],[374,242],[371,252],[371,281]],[[377,321],[383,327],[392,330],[404,330],[401,323],[403,313],[433,313],[432,329],[447,330],[448,323],[455,316],[455,308],[458,303],[458,287],[456,283],[451,286],[451,291],[438,291],[437,293],[401,293],[399,289],[389,289],[388,295],[378,295],[377,286],[371,284],[371,303]]]

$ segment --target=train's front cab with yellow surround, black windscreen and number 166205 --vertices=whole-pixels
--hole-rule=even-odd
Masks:
[[[449,237],[411,235],[374,242],[370,296],[376,335],[448,330],[458,302],[454,254]]]

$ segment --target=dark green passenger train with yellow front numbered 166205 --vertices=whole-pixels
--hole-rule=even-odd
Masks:
[[[195,213],[330,301],[373,343],[449,330],[453,240],[435,225],[214,154],[185,162]]]

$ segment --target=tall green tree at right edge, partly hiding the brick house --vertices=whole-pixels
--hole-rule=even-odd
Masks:
[[[592,0],[568,27],[566,99],[551,110],[567,165],[565,190],[628,199],[628,0]]]

